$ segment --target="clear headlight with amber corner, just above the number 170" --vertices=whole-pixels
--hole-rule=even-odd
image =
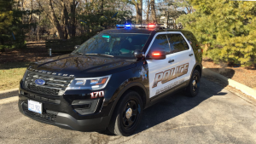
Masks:
[[[67,89],[104,89],[111,75],[98,78],[74,78]]]

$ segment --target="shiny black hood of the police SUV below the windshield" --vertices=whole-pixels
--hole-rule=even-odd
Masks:
[[[43,72],[56,72],[57,75],[90,78],[125,71],[135,66],[136,60],[127,61],[98,55],[61,55],[32,63],[30,68]]]

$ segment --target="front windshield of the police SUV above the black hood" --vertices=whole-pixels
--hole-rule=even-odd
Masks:
[[[148,37],[149,34],[141,33],[100,33],[81,44],[73,54],[134,58],[134,50],[142,50]]]

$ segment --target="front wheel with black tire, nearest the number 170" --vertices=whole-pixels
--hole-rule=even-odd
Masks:
[[[131,111],[129,112],[128,109]],[[137,130],[142,117],[143,101],[141,96],[136,91],[128,91],[115,107],[108,130],[115,135],[132,135]]]

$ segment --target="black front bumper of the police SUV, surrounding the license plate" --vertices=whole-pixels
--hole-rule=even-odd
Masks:
[[[55,98],[55,101],[53,101],[52,96],[38,95],[29,92],[26,89],[20,90],[24,91],[26,94],[34,96],[19,95],[18,105],[20,112],[29,118],[68,130],[98,131],[105,130],[108,127],[111,117],[108,115],[108,108],[102,107],[102,102],[99,102],[100,104],[96,107],[95,113],[81,115],[74,110],[74,107],[76,106],[72,105],[73,101],[80,100],[77,99],[78,97],[76,96],[61,96]],[[73,97],[74,99],[67,99],[67,97]],[[42,102],[43,114],[27,110],[27,100]]]

